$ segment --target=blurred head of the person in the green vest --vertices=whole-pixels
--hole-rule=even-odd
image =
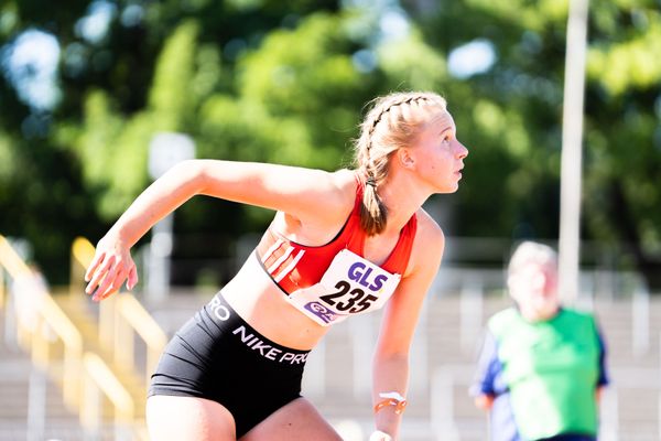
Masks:
[[[508,280],[512,298],[529,320],[548,320],[560,308],[557,270],[554,263],[529,261]]]

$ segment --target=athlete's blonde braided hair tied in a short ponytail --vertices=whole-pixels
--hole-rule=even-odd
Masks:
[[[398,149],[411,146],[432,117],[446,111],[446,101],[434,93],[399,92],[378,97],[370,105],[355,143],[355,163],[366,180],[360,226],[373,236],[386,229],[388,220],[377,187],[388,176],[390,157]]]

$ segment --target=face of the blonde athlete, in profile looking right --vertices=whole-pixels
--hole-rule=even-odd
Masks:
[[[457,130],[447,111],[436,115],[420,131],[410,150],[423,182],[436,193],[454,193],[459,186],[468,150],[457,140]]]

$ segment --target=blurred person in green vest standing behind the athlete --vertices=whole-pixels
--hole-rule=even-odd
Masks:
[[[508,288],[516,305],[488,321],[470,389],[491,440],[596,440],[606,349],[592,314],[561,305],[557,254],[519,245]]]

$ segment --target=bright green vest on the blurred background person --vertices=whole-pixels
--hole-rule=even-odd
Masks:
[[[596,435],[600,347],[593,316],[562,309],[549,321],[528,322],[512,308],[488,326],[521,435]]]

